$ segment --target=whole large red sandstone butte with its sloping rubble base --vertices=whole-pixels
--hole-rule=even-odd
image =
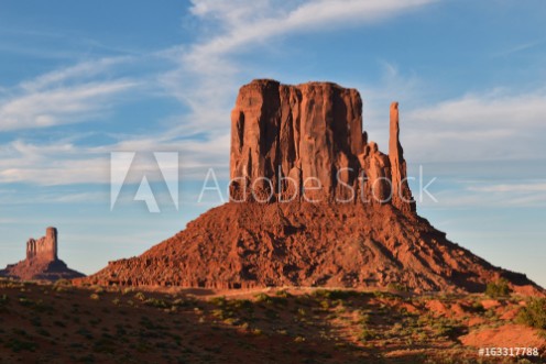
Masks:
[[[368,141],[361,113],[359,92],[330,82],[243,86],[231,113],[232,201],[83,283],[482,291],[504,277],[516,291],[543,291],[418,217],[397,103],[389,155]]]

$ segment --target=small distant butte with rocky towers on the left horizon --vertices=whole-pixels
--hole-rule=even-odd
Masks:
[[[47,228],[45,236],[26,242],[26,258],[10,264],[0,271],[0,276],[22,280],[57,280],[85,277],[84,274],[68,268],[57,256],[57,229]]]

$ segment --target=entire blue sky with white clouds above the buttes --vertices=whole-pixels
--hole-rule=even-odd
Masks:
[[[209,168],[226,184],[237,91],[274,78],[358,88],[383,151],[400,101],[410,173],[436,177],[419,213],[546,286],[544,19],[539,0],[2,1],[0,265],[55,225],[90,274],[221,203],[197,197]],[[141,158],[111,210],[114,152]],[[157,174],[161,212],[133,201],[152,152],[179,153],[178,209]]]

